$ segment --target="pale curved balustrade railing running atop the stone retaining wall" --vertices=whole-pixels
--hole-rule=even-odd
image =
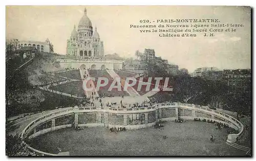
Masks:
[[[193,104],[184,104],[184,103],[167,103],[167,104],[155,104],[153,106],[150,107],[139,107],[139,108],[112,108],[112,107],[70,107],[67,109],[62,109],[59,111],[55,111],[53,113],[47,114],[45,116],[42,116],[34,121],[32,121],[30,124],[28,124],[26,126],[26,128],[22,131],[22,138],[25,138],[27,136],[27,134],[35,129],[38,125],[45,123],[51,119],[57,118],[57,117],[61,117],[61,116],[65,116],[67,114],[70,113],[86,113],[86,112],[108,112],[108,113],[120,113],[120,114],[132,114],[132,113],[146,113],[146,112],[153,112],[153,111],[157,111],[158,109],[173,109],[173,108],[178,108],[179,109],[187,109],[187,110],[191,110],[191,111],[198,111],[198,112],[202,112],[202,113],[206,113],[206,114],[210,114],[211,116],[217,117],[217,118],[221,118],[224,121],[220,121],[220,122],[228,122],[229,125],[233,125],[233,128],[235,128],[236,130],[239,130],[238,134],[228,134],[228,140],[227,142],[234,142],[237,140],[237,137],[240,138],[243,134],[243,130],[244,130],[244,126],[241,122],[239,122],[237,119],[234,119],[231,116],[228,116],[227,114],[220,112],[220,111],[216,111],[213,109],[209,109],[209,108],[205,108],[205,107],[201,107],[199,105],[193,105]],[[191,119],[196,118],[196,116],[191,116]],[[157,118],[156,120],[159,120],[159,118]],[[214,119],[212,119],[214,120]],[[55,121],[54,121],[55,123]],[[152,123],[145,123],[145,124],[150,124],[153,125]],[[132,125],[133,126],[133,125]],[[30,150],[35,152],[38,155],[57,155],[57,154],[50,154],[50,153],[45,153],[45,152],[41,152],[39,150],[33,149],[32,147],[30,147],[28,144],[26,144],[24,142],[24,144],[26,145],[26,147]]]

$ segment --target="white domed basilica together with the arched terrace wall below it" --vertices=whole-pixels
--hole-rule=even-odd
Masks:
[[[57,61],[60,67],[69,69],[121,70],[123,61],[117,60],[117,57],[119,57],[117,54],[104,57],[103,41],[100,40],[97,28],[93,31],[92,22],[84,8],[78,29],[74,26],[71,36],[67,40],[66,56]]]

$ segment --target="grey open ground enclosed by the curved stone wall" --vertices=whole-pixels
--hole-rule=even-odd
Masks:
[[[209,141],[213,134],[215,141]],[[167,139],[163,139],[167,135]],[[69,151],[70,155],[196,155],[241,156],[244,151],[225,143],[227,129],[213,124],[187,121],[164,123],[164,129],[154,127],[111,133],[102,127],[73,128],[52,131],[31,141],[31,146],[45,151]]]

